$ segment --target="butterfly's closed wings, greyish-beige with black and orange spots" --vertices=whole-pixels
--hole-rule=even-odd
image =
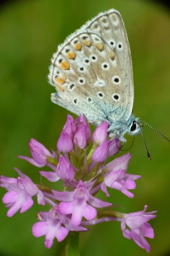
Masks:
[[[51,59],[54,103],[88,121],[127,120],[133,108],[128,38],[116,10],[98,14],[66,38]]]

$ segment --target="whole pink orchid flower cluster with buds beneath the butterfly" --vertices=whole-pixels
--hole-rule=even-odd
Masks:
[[[70,232],[87,232],[88,226],[119,221],[124,237],[133,239],[138,246],[150,251],[145,237],[154,237],[148,221],[156,217],[156,211],[146,213],[145,206],[143,211],[136,213],[120,213],[113,210],[111,198],[107,202],[96,195],[102,190],[109,197],[107,188],[111,188],[132,198],[134,194],[129,190],[134,190],[135,181],[141,178],[140,175],[126,172],[131,159],[129,153],[115,156],[120,142],[118,138],[107,139],[107,128],[108,123],[105,121],[91,134],[82,115],[75,120],[68,115],[56,143],[56,150],[49,152],[32,138],[29,142],[32,157],[19,156],[37,168],[48,166],[49,171],[39,170],[40,175],[50,182],[61,180],[63,191],[35,184],[17,168],[17,178],[1,176],[0,186],[7,190],[2,201],[8,208],[8,217],[19,210],[24,213],[31,208],[33,196],[37,197],[38,204],[49,205],[48,212],[40,211],[37,214],[38,222],[32,227],[35,237],[45,235],[44,244],[47,248],[53,245],[55,238],[61,242]],[[110,156],[112,161],[106,163]]]

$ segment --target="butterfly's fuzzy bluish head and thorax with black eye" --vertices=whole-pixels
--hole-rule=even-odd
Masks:
[[[130,135],[137,135],[140,133],[140,122],[139,118],[135,118],[133,114],[131,114],[128,120],[119,119],[118,121],[110,121],[108,133],[110,138],[118,137],[122,142],[126,141],[124,138],[125,133],[129,133]]]

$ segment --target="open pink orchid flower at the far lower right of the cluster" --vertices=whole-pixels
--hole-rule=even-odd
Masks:
[[[146,241],[145,237],[154,238],[153,228],[148,221],[156,218],[156,215],[153,214],[156,213],[156,211],[145,213],[147,208],[148,206],[145,205],[143,211],[124,214],[124,219],[121,221],[121,230],[124,237],[128,239],[132,238],[138,246],[149,253],[150,245]],[[126,225],[130,230],[126,228]]]

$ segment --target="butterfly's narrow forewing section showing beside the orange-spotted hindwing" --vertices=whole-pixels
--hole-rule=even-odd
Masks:
[[[123,75],[126,95],[128,97],[128,105],[126,113],[124,113],[127,120],[133,109],[134,86],[131,52],[123,20],[117,10],[111,9],[98,14],[89,23],[87,29],[93,29],[96,32],[100,31],[102,38],[114,50],[119,60],[121,71],[118,70],[118,72]]]

